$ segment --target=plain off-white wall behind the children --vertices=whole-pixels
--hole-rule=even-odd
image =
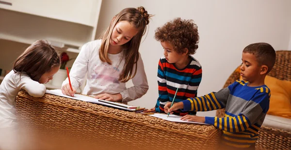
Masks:
[[[291,0],[103,0],[97,34],[112,17],[126,7],[144,6],[154,14],[140,52],[149,90],[129,104],[152,108],[158,97],[157,67],[163,55],[155,29],[175,18],[194,19],[200,42],[194,57],[203,68],[198,96],[218,91],[241,63],[242,50],[255,42],[270,43],[275,50],[290,49]],[[128,86],[132,84],[129,83]],[[215,112],[199,113],[214,116]]]

